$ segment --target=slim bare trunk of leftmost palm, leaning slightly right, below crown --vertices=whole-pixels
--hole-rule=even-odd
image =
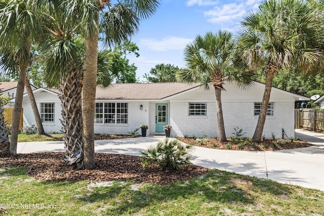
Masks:
[[[15,98],[14,113],[12,118],[12,128],[11,128],[11,138],[10,138],[10,154],[11,156],[17,155],[17,143],[18,143],[18,130],[19,130],[19,120],[22,108],[22,99],[25,89],[25,81],[27,76],[27,69],[29,67],[30,61],[30,42],[26,40],[25,44],[25,54],[23,60],[21,60],[19,65],[19,77],[17,84],[17,92]]]

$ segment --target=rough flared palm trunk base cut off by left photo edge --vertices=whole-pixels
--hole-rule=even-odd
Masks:
[[[6,128],[5,116],[3,114],[2,101],[0,98],[0,157],[6,157],[10,155],[9,151],[9,132]]]

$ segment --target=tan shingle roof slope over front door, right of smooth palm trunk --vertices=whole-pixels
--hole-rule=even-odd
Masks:
[[[117,83],[97,88],[97,100],[160,100],[198,87],[198,83],[181,82]]]

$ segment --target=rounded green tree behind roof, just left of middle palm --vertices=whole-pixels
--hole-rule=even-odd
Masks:
[[[176,82],[176,74],[180,69],[171,64],[158,64],[151,68],[149,73],[144,74],[148,82]]]

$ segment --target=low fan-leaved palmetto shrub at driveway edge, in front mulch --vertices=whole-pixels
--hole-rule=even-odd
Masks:
[[[150,146],[141,152],[142,167],[157,163],[164,170],[179,170],[184,165],[191,164],[189,153],[193,146],[183,145],[175,139],[165,139],[156,146]]]

